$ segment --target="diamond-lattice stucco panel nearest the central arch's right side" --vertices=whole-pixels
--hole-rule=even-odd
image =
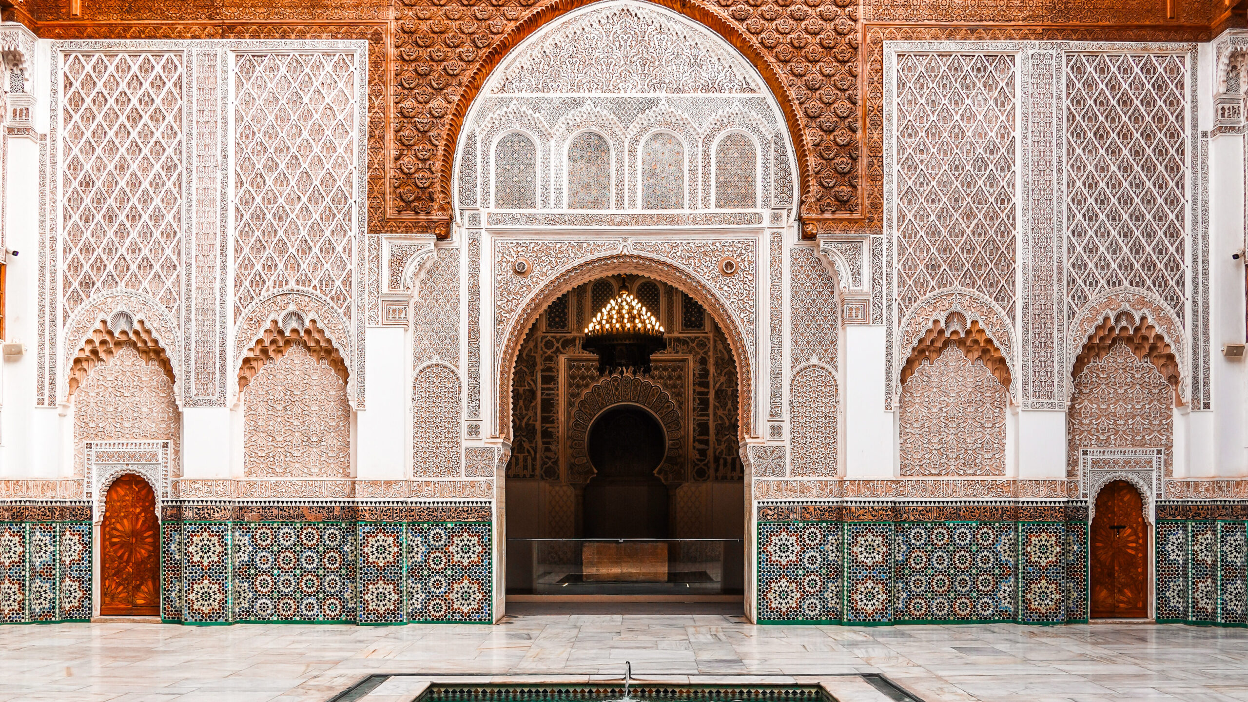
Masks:
[[[897,56],[897,301],[946,287],[1013,314],[1015,56]]]

